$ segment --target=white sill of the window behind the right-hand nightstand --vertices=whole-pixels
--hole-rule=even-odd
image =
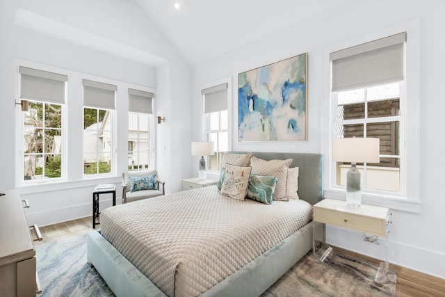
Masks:
[[[346,192],[334,189],[325,190],[323,198],[345,200],[346,203]],[[362,193],[362,203],[377,205],[380,207],[388,207],[389,209],[407,211],[415,214],[420,213],[420,207],[422,204],[422,202],[419,200],[395,198],[385,195],[373,195],[369,193]]]

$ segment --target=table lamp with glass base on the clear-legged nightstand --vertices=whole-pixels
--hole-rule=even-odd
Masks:
[[[337,138],[332,142],[332,161],[351,163],[346,174],[346,204],[349,207],[362,204],[360,172],[356,163],[379,163],[379,154],[379,138]]]

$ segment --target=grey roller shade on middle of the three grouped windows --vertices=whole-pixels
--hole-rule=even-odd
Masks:
[[[115,91],[118,87],[83,79],[83,106],[97,109],[115,109]]]

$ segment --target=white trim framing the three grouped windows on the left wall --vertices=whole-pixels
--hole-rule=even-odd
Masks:
[[[65,172],[65,175],[62,175],[63,178],[58,178],[57,180],[53,179],[42,179],[33,183],[24,183],[21,181],[22,170],[15,170],[15,188],[19,190],[20,194],[31,194],[31,193],[45,193],[49,191],[63,191],[72,188],[83,188],[83,187],[94,187],[97,184],[104,183],[120,183],[122,181],[122,170],[125,170],[125,163],[127,162],[127,144],[122,146],[122,139],[127,140],[127,131],[128,127],[128,88],[133,88],[136,90],[143,90],[145,92],[154,94],[154,103],[153,103],[153,113],[156,114],[156,89],[150,88],[149,86],[142,86],[135,83],[129,83],[125,81],[119,81],[118,79],[107,79],[104,77],[98,77],[94,74],[87,74],[84,72],[77,72],[75,70],[68,70],[62,67],[50,66],[47,64],[42,64],[33,61],[27,61],[21,58],[15,58],[15,102],[19,103],[19,83],[20,83],[20,75],[19,75],[19,66],[30,67],[38,70],[66,74],[68,76],[67,88],[65,88],[65,92],[67,93],[65,102],[65,108],[63,109],[63,127],[65,129],[65,137],[63,137],[63,147],[67,148],[68,143],[76,143],[79,141],[81,143],[83,141],[81,132],[83,129],[83,102],[82,100],[75,100],[71,98],[79,98],[83,96],[82,94],[82,79],[88,79],[91,81],[104,81],[104,83],[114,84],[118,86],[118,91],[116,92],[116,106],[115,106],[115,120],[113,121],[113,138],[115,142],[113,143],[113,165],[112,165],[112,173],[109,175],[95,175],[86,177],[83,175],[83,152],[82,150],[70,149],[67,148],[63,152],[62,155],[62,170]],[[125,90],[122,92],[122,90]],[[73,97],[74,95],[74,97]],[[13,103],[11,103],[13,104]],[[127,113],[127,116],[125,115]],[[67,123],[74,122],[74,125]],[[120,125],[118,125],[118,122]],[[22,134],[22,111],[19,106],[15,108],[15,168],[22,168],[22,138],[19,135]],[[79,125],[80,123],[80,125]],[[150,141],[152,143],[152,148],[150,151],[150,157],[152,158],[152,166],[156,168],[156,145],[154,141],[156,139],[156,124],[153,120],[149,123],[150,129],[152,131],[152,135],[150,137]],[[69,138],[67,135],[70,134],[79,136],[80,138]],[[73,140],[74,139],[74,140]],[[125,152],[124,154],[118,154],[118,149]],[[80,166],[79,166],[80,162]],[[122,169],[121,169],[122,168]]]

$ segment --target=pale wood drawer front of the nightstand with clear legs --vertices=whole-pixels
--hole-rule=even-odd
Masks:
[[[314,220],[320,223],[346,227],[368,234],[385,236],[385,220],[379,218],[347,214],[341,211],[316,207],[314,209]]]

